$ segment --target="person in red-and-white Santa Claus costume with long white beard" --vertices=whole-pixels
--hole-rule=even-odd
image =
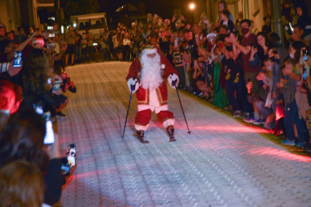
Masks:
[[[167,104],[165,81],[167,80],[169,86],[175,89],[179,78],[177,71],[161,54],[159,48],[153,45],[146,46],[141,56],[132,62],[126,80],[129,90],[133,89],[133,93],[136,92],[137,96],[135,129],[138,140],[142,143],[149,143],[148,140],[144,140],[144,132],[149,127],[151,112],[155,111],[167,129],[169,141],[176,141],[174,138],[175,119]]]

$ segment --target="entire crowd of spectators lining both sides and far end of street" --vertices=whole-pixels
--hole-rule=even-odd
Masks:
[[[76,88],[64,70],[68,64],[95,60],[95,51],[104,60],[132,61],[146,45],[157,45],[178,71],[180,90],[232,110],[231,117],[284,134],[284,145],[311,151],[311,17],[306,7],[282,4],[284,46],[271,32],[269,16],[262,31],[253,34],[252,21],[242,13],[234,23],[225,1],[218,8],[213,24],[205,13],[197,23],[183,15],[164,19],[156,14],[130,28],[118,23],[115,30],[102,32],[96,47],[87,28],[81,35],[69,27],[62,40],[57,24],[27,32],[23,27],[7,32],[0,25],[1,206],[48,206],[59,200],[64,180],[58,136],[44,145],[46,123],[34,106],[49,111],[52,119],[65,116],[64,93]],[[22,52],[17,67],[16,51]]]

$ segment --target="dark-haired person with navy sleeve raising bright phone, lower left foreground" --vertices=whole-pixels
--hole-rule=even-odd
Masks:
[[[45,134],[46,122],[33,109],[14,113],[0,133],[0,168],[15,160],[36,164],[44,174],[44,203],[53,205],[61,197],[64,177],[58,136],[45,145]]]

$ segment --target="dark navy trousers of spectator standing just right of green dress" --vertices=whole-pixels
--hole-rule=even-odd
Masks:
[[[233,110],[239,110],[239,111],[249,113],[250,108],[249,108],[249,104],[248,104],[248,100],[247,100],[245,82],[244,82],[243,78],[241,78],[241,77],[239,79],[239,82],[234,83],[233,81],[234,81],[233,79],[229,79],[228,81],[226,81],[226,85],[225,85],[225,89],[226,89],[226,93],[227,93],[227,97],[229,99],[229,102],[232,105]],[[242,110],[238,104],[237,99],[234,96],[234,90],[236,90],[237,97],[239,97],[239,99],[240,99]]]

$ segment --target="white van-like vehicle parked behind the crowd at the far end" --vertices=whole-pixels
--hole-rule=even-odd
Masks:
[[[89,28],[89,32],[95,35],[94,43],[98,43],[100,34],[107,26],[106,12],[70,16],[71,25],[78,28],[79,34]]]

